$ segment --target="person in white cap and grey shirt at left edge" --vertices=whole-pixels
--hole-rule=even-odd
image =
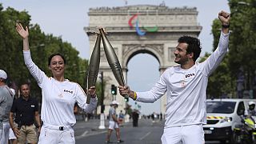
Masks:
[[[7,143],[9,138],[9,113],[13,104],[14,94],[6,85],[7,74],[0,70],[0,143]]]

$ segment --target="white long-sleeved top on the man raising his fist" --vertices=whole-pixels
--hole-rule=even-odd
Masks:
[[[221,34],[218,48],[205,62],[195,63],[188,70],[173,66],[165,70],[155,86],[146,92],[137,92],[138,102],[155,102],[166,93],[166,123],[186,126],[206,123],[206,87],[209,75],[227,52],[229,34]]]

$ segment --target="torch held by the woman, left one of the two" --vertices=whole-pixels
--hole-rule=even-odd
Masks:
[[[98,68],[100,62],[100,46],[101,46],[101,34],[97,34],[94,50],[90,56],[89,70],[87,76],[88,89],[90,86],[95,86],[98,77]],[[87,90],[88,90],[87,89]],[[90,103],[90,94],[87,93],[86,103]]]

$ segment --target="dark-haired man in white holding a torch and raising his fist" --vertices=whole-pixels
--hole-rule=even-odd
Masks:
[[[166,93],[166,123],[162,144],[204,143],[202,124],[206,123],[206,86],[210,74],[222,62],[229,42],[230,14],[218,13],[222,33],[218,48],[205,62],[196,62],[201,53],[198,38],[183,36],[178,39],[172,66],[161,75],[155,86],[146,92],[134,92],[129,86],[118,86],[120,94],[128,94],[138,102],[155,102]]]

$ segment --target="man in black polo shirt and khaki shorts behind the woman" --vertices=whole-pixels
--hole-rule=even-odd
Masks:
[[[29,84],[23,83],[20,90],[22,96],[14,100],[14,104],[10,110],[10,127],[14,131],[18,143],[37,143],[38,134],[36,126],[34,126],[35,121],[38,125],[38,133],[41,129],[38,101],[30,98]],[[16,114],[15,120],[14,114]]]

